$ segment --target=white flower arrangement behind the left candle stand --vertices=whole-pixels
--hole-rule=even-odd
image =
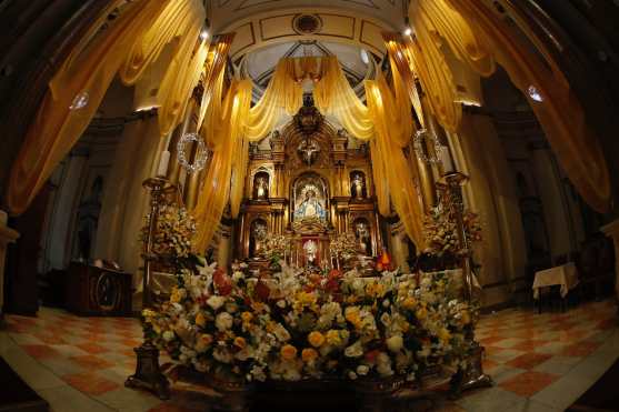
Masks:
[[[149,220],[150,213],[144,217],[140,242],[144,242],[148,237]],[[196,230],[196,220],[187,209],[176,204],[161,205],[152,238],[152,253],[170,261],[177,269],[193,268],[197,259],[191,241]]]

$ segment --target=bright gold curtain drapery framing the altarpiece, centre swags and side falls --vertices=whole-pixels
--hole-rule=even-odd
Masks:
[[[335,115],[352,135],[370,140],[379,211],[385,215],[391,213],[391,194],[407,233],[422,248],[422,205],[402,151],[413,130],[405,79],[392,64],[393,92],[381,77],[375,82],[367,82],[367,93],[376,97],[370,109],[359,100],[346,80],[337,58],[309,57],[281,59],[264,94],[253,108],[250,107],[250,81],[232,81],[223,96],[223,77],[221,73],[218,77],[201,129],[214,154],[193,210],[199,223],[196,235],[198,250],[208,247],[228,200],[231,217],[238,215],[249,141],[264,138],[282,117],[297,113],[302,104],[300,83],[307,78],[316,82],[313,94],[319,110]],[[223,181],[230,184],[223,185]]]

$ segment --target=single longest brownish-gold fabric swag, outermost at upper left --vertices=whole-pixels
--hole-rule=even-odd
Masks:
[[[50,90],[30,125],[11,170],[7,204],[11,213],[22,213],[53,169],[69,152],[88,127],[108,86],[112,81],[126,51],[136,37],[154,20],[163,0],[136,1],[110,22],[80,53],[72,53],[70,63],[61,67],[50,83]],[[90,39],[89,39],[90,40]],[[82,96],[88,104],[71,110],[74,99]]]

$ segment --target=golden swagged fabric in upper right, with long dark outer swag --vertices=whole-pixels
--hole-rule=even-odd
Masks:
[[[440,60],[440,57],[435,56],[440,52],[437,47],[440,34],[440,39],[447,42],[442,47],[449,46],[459,59],[480,74],[488,74],[492,68],[490,59],[496,59],[525,96],[529,97],[528,89],[535,87],[543,101],[530,100],[531,108],[562,168],[592,208],[600,212],[608,210],[610,178],[598,137],[586,124],[582,108],[569,84],[561,73],[552,71],[552,68],[558,67],[557,62],[542,61],[512,31],[511,26],[485,2],[415,0],[409,16],[418,28],[419,43],[407,48],[415,58],[425,54],[429,59],[436,57]],[[489,51],[492,51],[491,56]],[[417,60],[413,64],[421,83],[430,90],[429,100],[432,110],[436,110],[436,93],[431,90],[438,88],[438,82],[432,72],[417,67]],[[451,88],[445,84],[443,89],[449,89],[443,99],[443,103],[447,103]],[[459,124],[451,117],[437,114],[437,118],[449,130]]]

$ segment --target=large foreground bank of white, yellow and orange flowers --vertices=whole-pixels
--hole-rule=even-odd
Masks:
[[[144,333],[172,359],[236,381],[413,380],[462,365],[475,311],[450,299],[449,279],[356,271],[303,275],[286,263],[271,279],[214,265],[184,273]]]

